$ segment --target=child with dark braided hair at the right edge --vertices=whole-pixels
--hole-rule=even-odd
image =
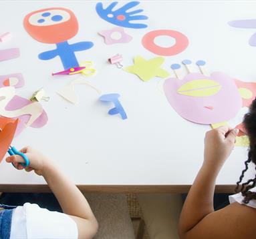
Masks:
[[[229,196],[229,206],[215,211],[215,180],[235,146],[239,130],[221,126],[207,132],[203,165],[190,188],[179,221],[181,239],[251,239],[256,238],[256,176],[241,184],[248,164],[256,164],[256,99],[244,118],[250,146],[237,192]],[[256,168],[256,167],[255,167]]]

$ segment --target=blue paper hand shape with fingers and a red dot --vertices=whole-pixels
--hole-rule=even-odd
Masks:
[[[117,4],[118,2],[114,1],[113,3],[110,3],[110,5],[106,7],[106,9],[104,9],[102,3],[97,3],[96,11],[102,19],[120,27],[136,29],[148,27],[148,25],[142,23],[130,23],[130,21],[148,19],[148,17],[145,15],[136,15],[137,13],[141,13],[143,11],[142,9],[127,12],[129,9],[132,9],[132,7],[140,4],[139,1],[131,1],[129,3],[126,3],[126,5],[120,7],[119,9],[113,11],[113,8]]]

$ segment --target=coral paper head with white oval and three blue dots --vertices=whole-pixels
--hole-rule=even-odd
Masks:
[[[63,7],[33,11],[25,16],[23,24],[27,33],[42,43],[61,43],[78,33],[76,16]]]

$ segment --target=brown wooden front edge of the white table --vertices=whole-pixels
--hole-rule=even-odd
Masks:
[[[191,185],[77,185],[83,192],[187,193]],[[235,185],[216,185],[217,193],[233,193]],[[0,184],[0,192],[51,192],[46,184]]]

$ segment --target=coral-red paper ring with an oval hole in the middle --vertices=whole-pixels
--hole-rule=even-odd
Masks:
[[[154,43],[154,39],[160,36],[173,37],[176,41],[172,47],[159,47]],[[161,56],[172,56],[181,53],[188,47],[188,38],[178,31],[173,30],[156,30],[146,33],[142,38],[142,45],[152,53]]]

